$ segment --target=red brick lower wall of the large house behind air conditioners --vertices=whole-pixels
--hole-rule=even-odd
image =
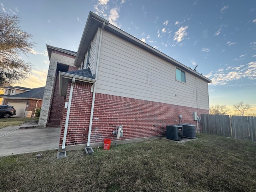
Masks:
[[[74,84],[66,146],[87,143],[92,102],[90,87],[77,82]],[[179,115],[182,115],[182,123],[196,124],[193,120],[194,111],[198,116],[209,113],[208,110],[96,93],[90,143],[100,143],[105,138],[115,140],[112,132],[121,124],[124,130],[121,140],[164,136],[166,125],[179,124]],[[64,126],[63,121],[60,146]]]

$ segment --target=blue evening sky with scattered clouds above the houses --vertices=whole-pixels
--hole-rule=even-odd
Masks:
[[[255,0],[0,0],[0,12],[17,15],[35,47],[30,77],[45,86],[46,44],[77,51],[89,11],[206,76],[210,106],[250,104],[256,116]]]

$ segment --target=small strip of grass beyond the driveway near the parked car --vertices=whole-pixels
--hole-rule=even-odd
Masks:
[[[19,126],[22,123],[28,122],[28,121],[36,121],[38,118],[16,118],[16,117],[10,117],[10,118],[0,118],[0,129],[9,127],[9,126]]]

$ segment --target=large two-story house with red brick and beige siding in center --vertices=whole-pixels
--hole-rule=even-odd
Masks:
[[[39,126],[62,126],[60,149],[114,141],[121,124],[119,143],[164,136],[166,125],[196,124],[194,112],[209,114],[211,80],[92,12],[77,53],[47,49]]]

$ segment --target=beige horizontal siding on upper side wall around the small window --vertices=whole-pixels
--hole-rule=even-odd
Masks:
[[[175,80],[175,66],[104,31],[98,93],[208,109],[208,84],[186,72]]]

